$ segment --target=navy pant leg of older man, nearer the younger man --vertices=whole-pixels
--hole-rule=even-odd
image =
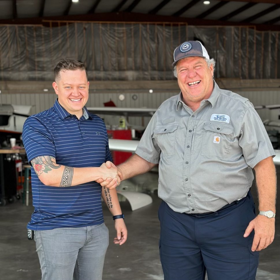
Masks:
[[[205,267],[195,241],[195,218],[174,212],[165,202],[160,205],[158,216],[164,279],[204,280]]]

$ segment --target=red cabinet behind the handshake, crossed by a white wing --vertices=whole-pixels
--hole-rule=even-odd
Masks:
[[[131,140],[131,130],[107,130],[108,137],[112,139],[124,139]],[[118,165],[125,162],[130,156],[132,156],[131,152],[119,152],[119,151],[111,151],[114,164]]]

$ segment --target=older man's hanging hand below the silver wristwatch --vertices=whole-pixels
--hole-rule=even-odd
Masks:
[[[252,251],[260,251],[270,245],[274,239],[275,234],[275,218],[268,218],[263,215],[258,215],[253,219],[247,229],[245,230],[244,237],[254,229],[255,236],[252,244]]]

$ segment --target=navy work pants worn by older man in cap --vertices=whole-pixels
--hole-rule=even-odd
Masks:
[[[164,201],[160,220],[160,260],[165,280],[254,280],[259,254],[252,252],[254,232],[243,237],[255,218],[255,204],[247,197],[216,212],[185,214]]]

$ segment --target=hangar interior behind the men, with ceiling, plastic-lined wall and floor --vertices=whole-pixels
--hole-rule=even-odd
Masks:
[[[0,1],[0,115],[5,104],[29,106],[29,115],[53,106],[57,97],[52,88],[53,68],[64,57],[86,64],[90,83],[87,107],[113,102],[119,108],[156,109],[180,92],[171,66],[173,50],[184,41],[199,40],[216,61],[215,81],[221,88],[249,98],[255,107],[263,107],[257,112],[263,121],[273,121],[266,129],[274,148],[280,149],[279,0],[215,0],[209,6],[196,0],[73,2]],[[273,110],[266,108],[278,104]],[[117,129],[124,115],[100,114],[108,130]],[[143,130],[150,118],[126,117],[126,129]],[[7,137],[17,137],[20,144],[20,134],[15,136],[13,131],[16,125],[22,123],[16,124],[12,116],[8,124],[0,122],[0,140],[7,140],[2,148],[9,148]],[[277,175],[279,171],[277,166]],[[1,176],[3,179],[4,173]],[[115,230],[104,207],[110,232],[104,280],[163,280],[158,255],[157,178],[152,171],[135,179],[153,184],[148,193],[152,204],[132,211],[128,201],[120,199],[129,232],[121,247],[112,242]],[[35,244],[27,240],[26,224],[33,211],[29,188],[28,206],[17,193],[18,199],[0,207],[3,280],[41,277]],[[257,207],[254,184],[252,192]],[[280,277],[279,230],[276,218],[275,240],[260,253],[257,280]]]

